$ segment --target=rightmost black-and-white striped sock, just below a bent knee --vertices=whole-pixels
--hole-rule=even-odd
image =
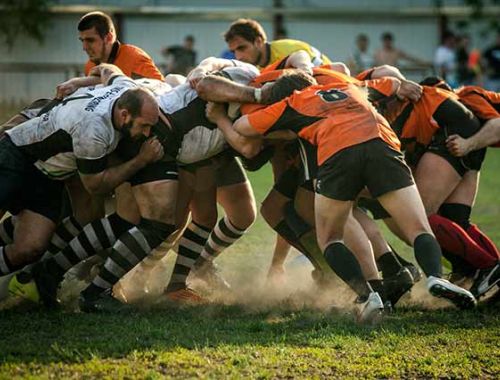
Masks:
[[[200,257],[196,260],[196,267],[202,267],[206,261],[212,261],[220,253],[243,236],[246,230],[236,228],[227,216],[224,216],[215,226],[203,248]]]

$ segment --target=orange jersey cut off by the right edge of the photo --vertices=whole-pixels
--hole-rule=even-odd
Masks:
[[[460,102],[478,119],[486,121],[500,117],[500,93],[478,86],[466,86],[457,90],[457,95]]]

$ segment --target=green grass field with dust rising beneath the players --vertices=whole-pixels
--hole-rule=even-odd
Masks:
[[[500,151],[491,150],[473,213],[497,244],[498,173]],[[251,180],[261,200],[269,168]],[[498,308],[427,310],[431,298],[417,289],[379,326],[360,326],[351,314],[318,305],[304,271],[291,270],[299,277],[288,279],[283,298],[270,297],[260,285],[273,241],[259,219],[219,259],[235,295],[207,306],[117,315],[0,311],[0,379],[500,377]]]

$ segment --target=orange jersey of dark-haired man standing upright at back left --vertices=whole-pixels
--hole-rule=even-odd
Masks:
[[[106,63],[118,66],[126,76],[132,79],[152,78],[163,80],[163,75],[154,64],[153,59],[144,50],[134,45],[121,44],[116,41]],[[88,61],[85,65],[85,75],[88,75],[90,69],[94,66],[95,63]]]

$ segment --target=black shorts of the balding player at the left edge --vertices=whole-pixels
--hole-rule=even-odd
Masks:
[[[49,179],[4,136],[0,139],[0,208],[30,210],[59,221],[64,182]]]

